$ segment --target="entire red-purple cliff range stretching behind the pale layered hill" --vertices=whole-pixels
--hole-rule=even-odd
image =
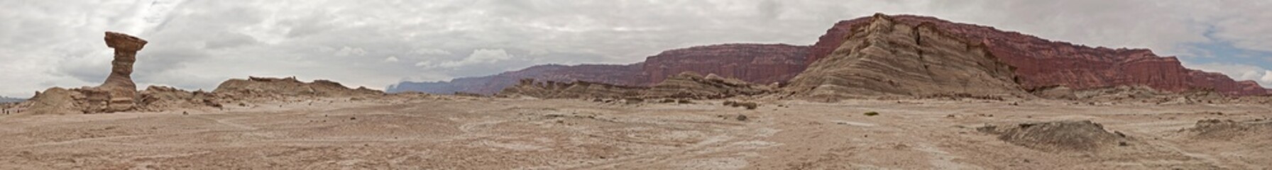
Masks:
[[[1222,74],[1189,70],[1175,57],[1160,57],[1149,49],[1088,47],[1053,42],[992,27],[953,23],[931,16],[894,15],[899,24],[931,23],[965,42],[985,44],[992,56],[1014,66],[1025,90],[1067,86],[1075,90],[1145,85],[1165,91],[1207,90],[1225,95],[1266,95],[1269,89],[1254,81],[1235,81]],[[715,74],[757,84],[786,82],[813,62],[824,58],[845,41],[854,27],[871,16],[836,23],[815,44],[716,44],[665,51],[632,65],[541,65],[492,76],[462,77],[439,82],[401,82],[389,93],[455,91],[494,94],[522,79],[543,81],[591,81],[649,86],[683,71]],[[757,53],[759,52],[759,53]],[[801,62],[795,65],[792,62]]]

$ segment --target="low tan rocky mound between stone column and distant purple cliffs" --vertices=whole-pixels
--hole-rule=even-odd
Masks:
[[[383,95],[383,91],[360,86],[350,89],[329,80],[301,82],[296,77],[248,77],[230,79],[216,86],[212,93],[235,95],[239,98],[280,98],[280,96],[363,96]]]

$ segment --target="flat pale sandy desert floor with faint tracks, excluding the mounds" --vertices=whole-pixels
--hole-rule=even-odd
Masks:
[[[322,99],[0,115],[0,169],[1272,169],[1272,141],[1180,131],[1210,118],[1272,118],[1268,105],[720,103]],[[1138,142],[1040,151],[976,129],[1047,121],[1093,121]]]

